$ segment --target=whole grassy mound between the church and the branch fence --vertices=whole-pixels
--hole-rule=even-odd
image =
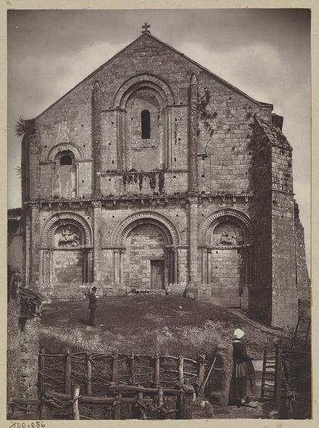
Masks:
[[[88,326],[88,300],[59,302],[43,307],[41,348],[58,353],[135,352],[210,357],[216,347],[229,349],[235,328],[246,332],[250,355],[261,357],[263,346],[288,331],[253,322],[241,311],[184,297],[127,295],[98,300],[98,326]]]

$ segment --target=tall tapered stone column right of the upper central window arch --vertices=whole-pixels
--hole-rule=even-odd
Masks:
[[[189,192],[197,193],[198,185],[198,163],[197,163],[197,98],[198,85],[197,78],[193,74],[192,81],[189,86],[189,126],[188,126],[188,142],[189,142]]]

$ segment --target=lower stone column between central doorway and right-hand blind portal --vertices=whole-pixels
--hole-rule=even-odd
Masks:
[[[189,282],[187,295],[194,299],[199,298],[198,289],[198,234],[197,234],[197,211],[198,198],[188,198],[189,203]]]

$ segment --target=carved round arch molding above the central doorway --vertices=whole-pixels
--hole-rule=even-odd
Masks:
[[[169,245],[177,246],[180,243],[178,230],[171,220],[153,211],[140,211],[129,215],[117,226],[112,236],[112,245],[125,246],[127,235],[139,225],[156,225],[164,232]]]

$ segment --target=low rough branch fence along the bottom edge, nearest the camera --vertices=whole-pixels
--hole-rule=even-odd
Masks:
[[[145,388],[134,385],[113,385],[110,396],[81,395],[80,387],[73,387],[73,394],[47,392],[41,399],[11,400],[11,419],[15,411],[34,419],[192,419],[194,387]],[[21,416],[21,414],[20,414]]]

